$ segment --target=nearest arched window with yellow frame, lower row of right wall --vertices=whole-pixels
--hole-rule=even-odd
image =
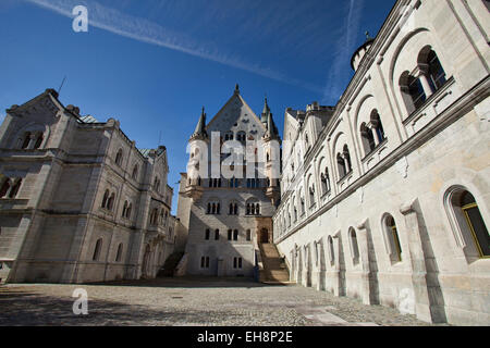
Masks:
[[[451,195],[451,204],[465,244],[465,253],[476,258],[490,257],[490,236],[475,197],[465,189]]]

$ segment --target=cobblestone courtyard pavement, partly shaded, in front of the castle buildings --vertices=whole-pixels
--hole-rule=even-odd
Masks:
[[[73,314],[76,288],[88,293],[88,315]],[[243,278],[7,285],[0,287],[0,325],[429,325],[358,299]]]

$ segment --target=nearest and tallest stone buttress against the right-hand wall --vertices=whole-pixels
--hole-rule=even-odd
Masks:
[[[431,303],[427,287],[427,268],[424,256],[420,227],[418,224],[416,206],[418,201],[403,204],[400,212],[405,216],[406,232],[408,235],[408,251],[412,266],[412,285],[415,296],[415,313],[417,319],[432,323]]]

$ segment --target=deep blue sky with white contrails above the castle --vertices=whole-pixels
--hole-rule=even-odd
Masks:
[[[71,10],[88,9],[74,33]],[[0,122],[4,110],[68,80],[60,100],[115,117],[139,148],[169,150],[169,184],[185,171],[203,105],[210,120],[236,83],[259,114],[334,105],[354,50],[394,0],[0,0]],[[176,208],[176,192],[173,208]]]

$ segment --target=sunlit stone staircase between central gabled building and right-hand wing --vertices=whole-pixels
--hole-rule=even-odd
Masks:
[[[264,264],[260,282],[266,284],[291,284],[290,272],[275,245],[260,244],[259,249]]]

